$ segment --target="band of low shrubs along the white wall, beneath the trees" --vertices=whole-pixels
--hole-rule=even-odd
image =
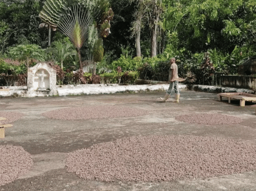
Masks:
[[[36,48],[37,53],[34,54],[31,48]],[[27,53],[18,56],[18,52],[22,49],[26,50]],[[14,84],[24,85],[26,83],[25,74],[27,73],[26,62],[29,61],[29,67],[34,66],[38,62],[35,59],[37,56],[39,56],[39,58],[45,56],[43,53],[44,50],[40,49],[40,47],[35,47],[34,45],[17,46],[16,48],[10,48],[10,50],[9,54],[5,54],[5,57],[11,56],[12,59],[0,58],[0,74],[5,74],[1,75],[0,86]],[[169,53],[171,52],[171,50],[168,51]],[[183,48],[180,50],[172,50],[172,52],[169,53],[166,51],[162,55],[153,58],[131,58],[127,54],[124,54],[110,65],[104,65],[105,69],[101,70],[101,74],[99,75],[83,73],[82,71],[73,73],[71,71],[73,69],[70,68],[69,70],[64,67],[63,70],[55,62],[54,65],[56,67],[54,68],[57,70],[57,84],[134,84],[137,78],[168,81],[170,67],[169,60],[171,57],[175,57],[179,67],[179,76],[188,78],[187,83],[212,85],[213,81],[216,81],[216,76],[236,74],[241,60],[255,55],[256,48],[253,46],[242,48],[235,47],[230,54],[224,54],[217,48],[209,49],[209,62],[207,64],[205,64],[204,52],[191,53]],[[50,57],[48,55],[48,58]],[[68,64],[65,63],[65,65],[67,66]],[[118,71],[117,68],[119,68]]]

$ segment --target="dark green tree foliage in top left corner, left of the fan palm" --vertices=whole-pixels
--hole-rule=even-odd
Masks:
[[[17,44],[36,44],[45,47],[47,37],[39,30],[40,12],[44,0],[0,1],[0,54]]]

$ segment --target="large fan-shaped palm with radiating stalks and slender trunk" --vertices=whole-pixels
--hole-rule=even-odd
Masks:
[[[69,38],[77,50],[82,69],[80,49],[88,37],[89,26],[93,23],[90,10],[75,0],[46,0],[39,17],[47,26],[59,29]]]

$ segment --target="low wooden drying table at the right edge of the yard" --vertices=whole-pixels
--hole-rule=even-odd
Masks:
[[[227,97],[229,103],[232,99],[239,99],[240,106],[245,106],[246,101],[256,101],[256,95],[248,93],[220,93],[218,96],[220,101],[222,97]]]

